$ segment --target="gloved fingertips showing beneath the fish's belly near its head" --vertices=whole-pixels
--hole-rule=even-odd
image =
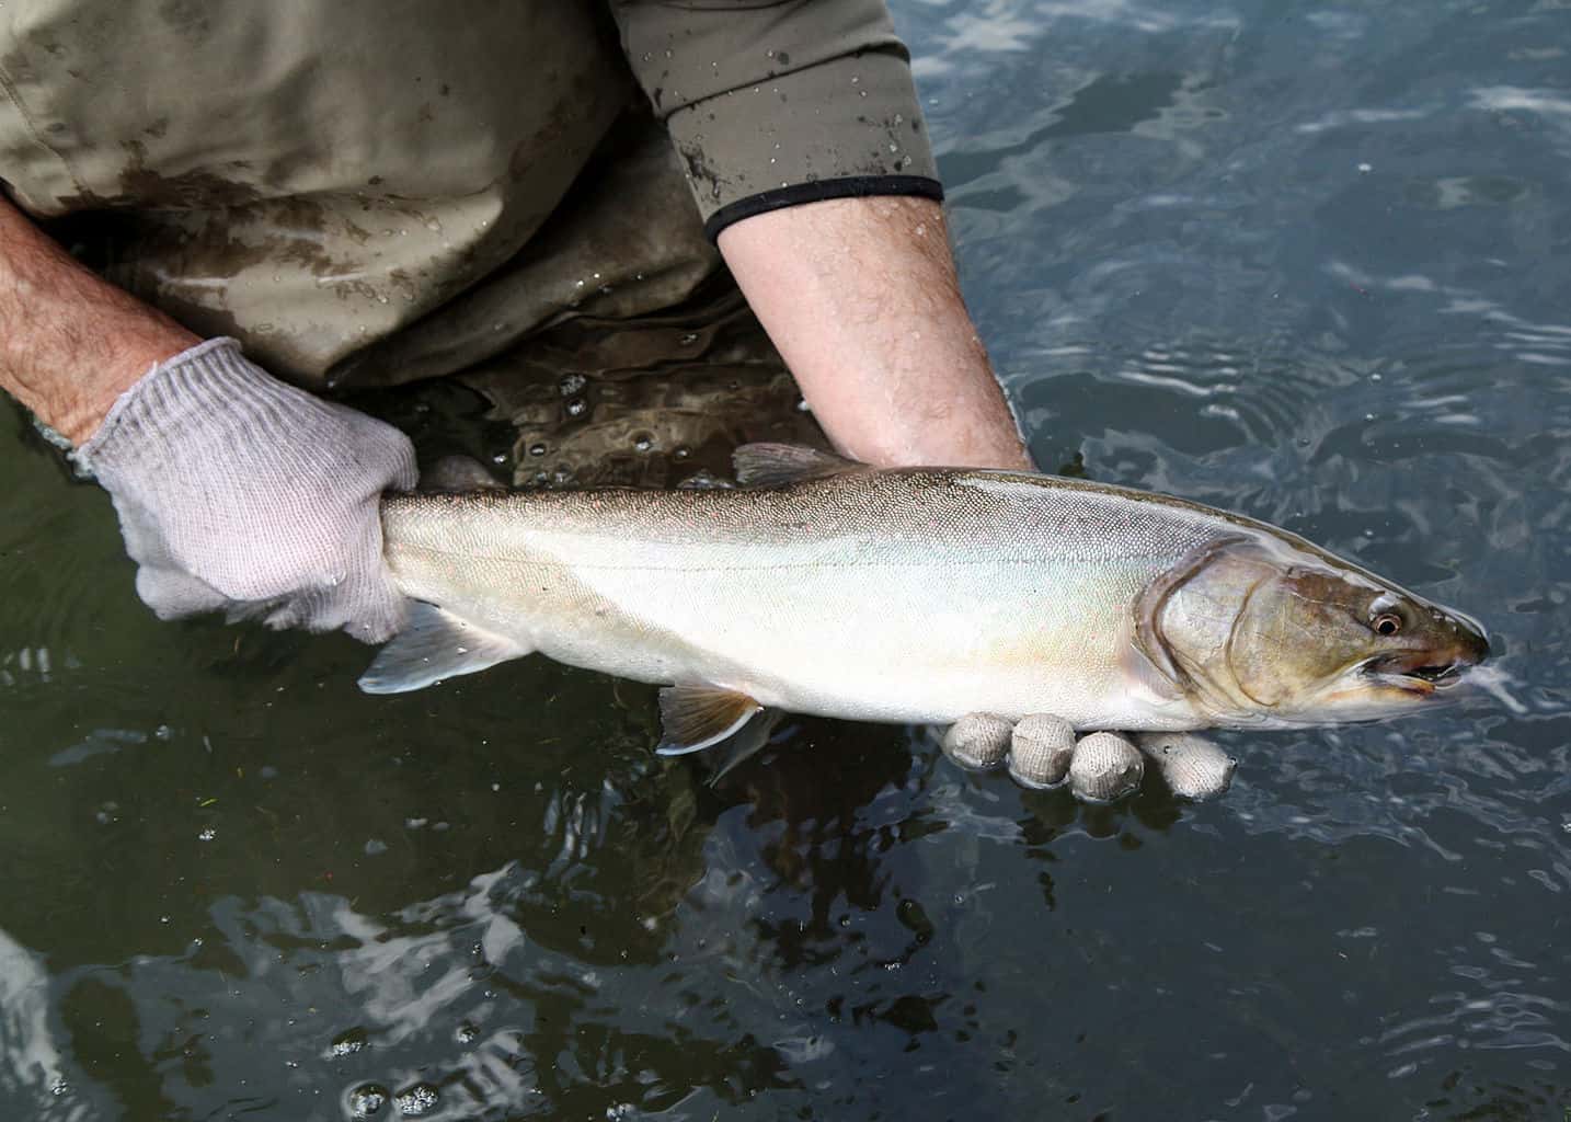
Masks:
[[[968,770],[1007,762],[1010,776],[1024,787],[1068,783],[1075,797],[1089,803],[1111,803],[1134,792],[1147,762],[1175,795],[1211,798],[1227,790],[1238,764],[1191,732],[1137,732],[1134,742],[1115,732],[1092,732],[1076,740],[1068,721],[1046,713],[1018,723],[994,713],[968,713],[944,734],[943,748]]]

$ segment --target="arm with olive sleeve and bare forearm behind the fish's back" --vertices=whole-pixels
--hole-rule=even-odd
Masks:
[[[1029,460],[955,284],[883,0],[611,0],[705,229],[842,451]]]

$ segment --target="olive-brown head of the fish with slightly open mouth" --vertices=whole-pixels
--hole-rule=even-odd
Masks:
[[[1219,724],[1412,712],[1489,654],[1477,621],[1287,534],[1197,550],[1141,610],[1142,651]]]

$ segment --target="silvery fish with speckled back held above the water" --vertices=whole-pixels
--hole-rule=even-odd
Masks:
[[[737,487],[390,493],[412,607],[360,679],[416,690],[544,654],[665,687],[666,753],[762,710],[1076,731],[1420,712],[1480,622],[1265,522],[1103,482],[870,468],[745,445]]]

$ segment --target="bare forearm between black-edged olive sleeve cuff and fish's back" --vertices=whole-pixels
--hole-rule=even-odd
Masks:
[[[770,211],[726,226],[720,251],[840,451],[877,465],[1031,468],[960,299],[938,203]]]

